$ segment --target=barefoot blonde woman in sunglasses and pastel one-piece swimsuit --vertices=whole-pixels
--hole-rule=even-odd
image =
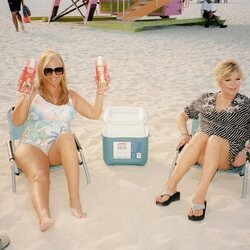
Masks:
[[[45,231],[54,223],[49,212],[50,165],[63,165],[72,212],[78,218],[86,216],[80,202],[78,156],[70,122],[76,112],[98,119],[103,107],[103,90],[97,82],[95,103],[91,105],[68,89],[63,59],[52,50],[40,56],[37,72],[37,88],[29,96],[20,97],[12,119],[16,126],[27,121],[15,158],[30,182],[40,230]]]

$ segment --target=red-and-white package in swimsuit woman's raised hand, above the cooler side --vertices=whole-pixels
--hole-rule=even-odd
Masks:
[[[108,91],[108,70],[105,58],[98,56],[95,62],[96,80],[104,92]]]

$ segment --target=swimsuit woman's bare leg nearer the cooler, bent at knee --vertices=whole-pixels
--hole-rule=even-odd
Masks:
[[[49,161],[51,165],[63,165],[72,211],[76,217],[85,217],[86,213],[82,211],[80,203],[78,155],[75,140],[71,133],[62,133],[52,144],[49,149]]]

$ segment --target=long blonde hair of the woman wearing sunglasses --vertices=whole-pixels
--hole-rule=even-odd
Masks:
[[[67,78],[66,78],[66,72],[65,72],[65,64],[63,62],[62,57],[53,50],[46,50],[44,51],[38,60],[38,66],[37,66],[37,73],[38,73],[38,92],[39,94],[47,101],[52,101],[52,95],[50,91],[47,88],[47,79],[44,75],[44,69],[48,65],[48,63],[53,59],[57,57],[63,65],[64,74],[62,75],[62,80],[60,82],[61,85],[61,94],[58,99],[57,105],[63,105],[69,102],[69,91],[67,88]]]

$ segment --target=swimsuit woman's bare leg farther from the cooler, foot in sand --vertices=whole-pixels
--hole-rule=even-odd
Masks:
[[[49,213],[49,160],[37,147],[21,144],[15,153],[16,163],[31,185],[31,199],[40,223],[45,231],[53,225]]]

